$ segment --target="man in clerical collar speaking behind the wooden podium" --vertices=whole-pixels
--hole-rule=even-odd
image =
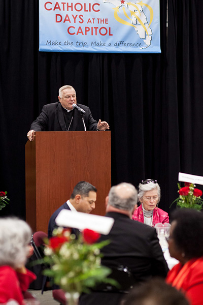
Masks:
[[[36,131],[94,131],[107,130],[109,124],[93,119],[89,107],[77,104],[76,91],[70,85],[59,89],[59,102],[43,106],[42,112],[30,126],[27,137],[33,141]]]

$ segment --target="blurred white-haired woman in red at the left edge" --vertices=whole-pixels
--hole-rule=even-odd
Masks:
[[[36,275],[25,268],[31,255],[31,229],[17,218],[0,220],[0,303],[10,299],[24,304],[23,292],[36,279]]]

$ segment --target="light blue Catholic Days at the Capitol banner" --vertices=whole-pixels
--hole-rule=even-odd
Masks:
[[[159,0],[39,0],[40,51],[160,53]]]

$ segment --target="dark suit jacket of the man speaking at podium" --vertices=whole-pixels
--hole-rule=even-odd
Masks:
[[[77,104],[80,108],[86,111],[84,117],[87,131],[93,131],[97,128],[97,121],[93,119],[89,107]],[[83,131],[84,125],[81,118],[80,111],[73,109],[73,121],[71,123],[72,131]],[[52,103],[43,106],[42,112],[38,118],[33,121],[30,130],[35,131],[65,131],[63,109],[60,102]]]

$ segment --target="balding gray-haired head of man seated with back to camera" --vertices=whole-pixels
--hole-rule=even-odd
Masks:
[[[136,188],[126,182],[114,186],[109,192],[108,204],[118,209],[132,211],[138,202]]]

